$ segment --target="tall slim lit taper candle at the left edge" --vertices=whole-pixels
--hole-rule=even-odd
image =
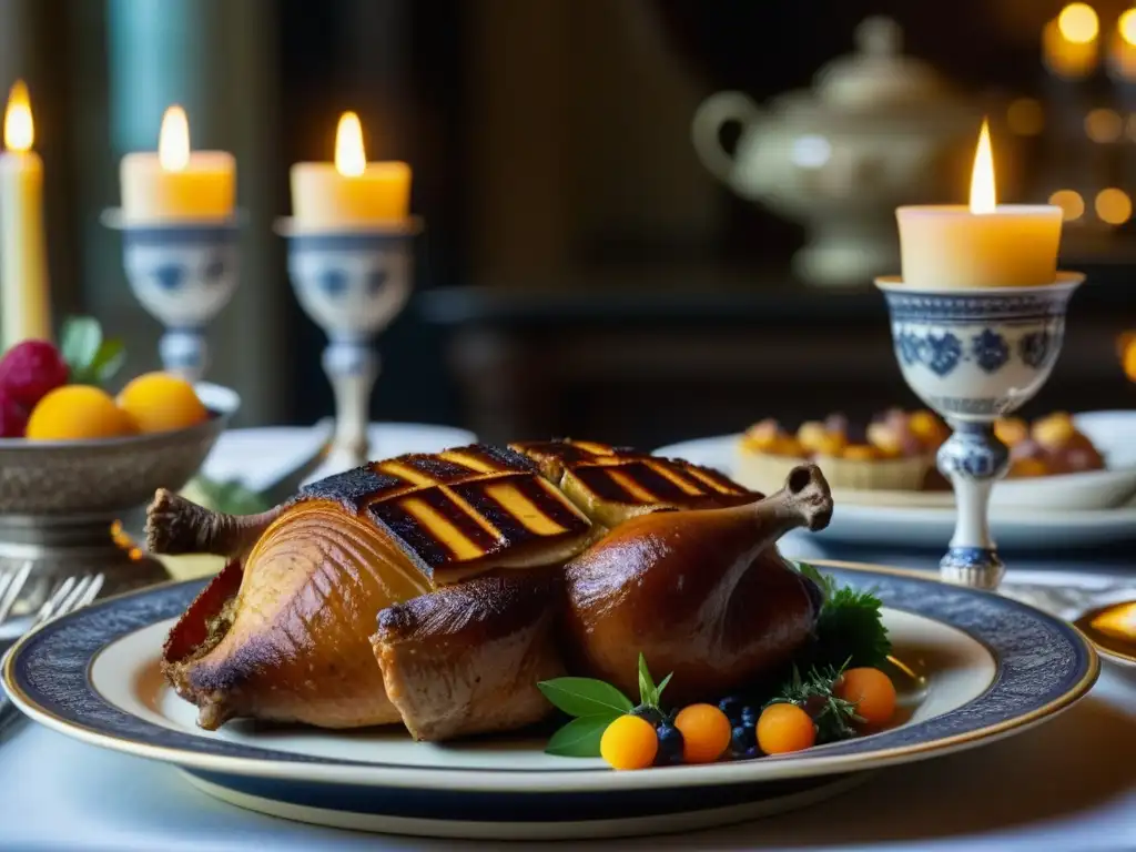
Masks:
[[[8,95],[0,156],[0,317],[3,348],[51,340],[51,291],[43,234],[43,160],[32,150],[35,128],[27,86]]]

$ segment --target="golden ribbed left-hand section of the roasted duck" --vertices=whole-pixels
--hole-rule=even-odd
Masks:
[[[335,503],[303,503],[249,554],[219,641],[167,659],[167,676],[210,730],[234,717],[329,728],[398,721],[367,637],[379,610],[427,588],[374,526]]]

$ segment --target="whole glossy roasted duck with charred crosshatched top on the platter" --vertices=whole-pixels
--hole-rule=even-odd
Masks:
[[[570,441],[374,462],[257,516],[159,491],[151,551],[229,558],[164,667],[208,729],[513,729],[549,712],[536,683],[565,671],[633,693],[641,651],[676,671],[679,698],[709,696],[807,641],[817,590],[776,541],[830,513],[816,467],[762,499],[688,462]]]

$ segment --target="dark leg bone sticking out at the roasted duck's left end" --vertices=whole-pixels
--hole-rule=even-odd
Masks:
[[[145,510],[145,543],[151,553],[212,553],[240,559],[281,516],[277,506],[259,515],[225,515],[158,488]]]

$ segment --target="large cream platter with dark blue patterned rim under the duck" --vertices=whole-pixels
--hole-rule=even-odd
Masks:
[[[615,772],[558,758],[535,738],[414,743],[401,729],[332,733],[231,724],[201,730],[159,673],[191,580],[108,599],[50,623],[8,655],[5,687],[36,721],[178,767],[234,804],[362,830],[569,838],[691,830],[832,795],[871,770],[972,747],[1053,717],[1094,684],[1074,627],[1013,600],[926,577],[818,565],[884,601],[907,720],[805,753]]]

